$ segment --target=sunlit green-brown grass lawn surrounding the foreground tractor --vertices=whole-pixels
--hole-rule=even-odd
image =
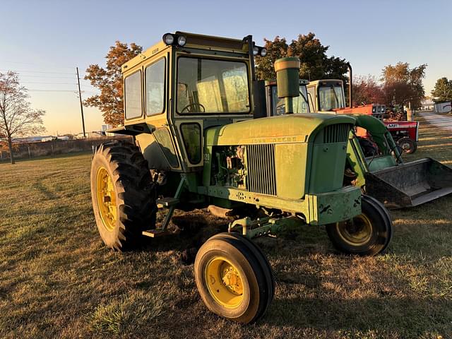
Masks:
[[[450,134],[421,123],[407,157],[452,165]],[[0,338],[452,338],[452,196],[391,211],[395,233],[373,258],[335,253],[323,227],[259,239],[276,279],[266,316],[240,326],[211,314],[188,235],[148,249],[103,245],[90,200],[91,156],[0,165]],[[202,210],[174,221],[226,226]]]

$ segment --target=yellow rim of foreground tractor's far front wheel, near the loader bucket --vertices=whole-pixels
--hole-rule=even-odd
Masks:
[[[364,245],[372,236],[372,223],[364,214],[352,220],[338,222],[336,227],[343,241],[352,246]]]

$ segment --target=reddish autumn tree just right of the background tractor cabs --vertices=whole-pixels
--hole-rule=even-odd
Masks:
[[[383,103],[385,95],[382,86],[374,76],[357,76],[353,78],[353,105]]]

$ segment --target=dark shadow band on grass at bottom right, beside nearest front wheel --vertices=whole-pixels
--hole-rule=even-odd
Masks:
[[[452,333],[452,301],[382,297],[370,299],[278,298],[262,320],[270,326],[327,331],[384,331],[407,336]]]

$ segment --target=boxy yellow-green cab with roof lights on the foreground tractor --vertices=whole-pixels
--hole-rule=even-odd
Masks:
[[[203,134],[211,126],[252,119],[254,57],[243,40],[186,32],[162,41],[122,66],[124,126],[150,168],[193,172],[203,166]]]

